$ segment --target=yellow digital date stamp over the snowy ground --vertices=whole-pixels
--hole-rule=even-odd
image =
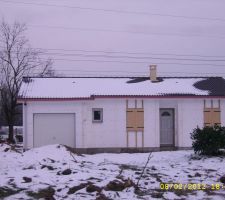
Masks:
[[[225,190],[225,184],[214,183],[160,183],[161,190]]]

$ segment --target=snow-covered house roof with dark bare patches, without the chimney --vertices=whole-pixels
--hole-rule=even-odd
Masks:
[[[24,78],[19,96],[20,99],[66,99],[95,96],[225,96],[225,84],[222,86],[221,81],[224,84],[225,80],[221,77],[164,77],[159,78],[158,82],[151,82],[146,77]],[[224,91],[215,93],[218,84]]]

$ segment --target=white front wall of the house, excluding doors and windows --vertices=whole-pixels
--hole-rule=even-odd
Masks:
[[[127,148],[126,101],[132,107],[135,99],[137,107],[141,100],[144,105],[144,148],[160,147],[160,114],[162,108],[174,109],[175,147],[191,147],[191,131],[204,123],[203,98],[95,98],[93,100],[57,100],[24,102],[24,148],[33,148],[35,114],[75,114],[74,148]],[[210,99],[211,100],[211,99]],[[214,99],[217,102],[218,99]],[[207,102],[207,101],[206,101]],[[220,99],[221,124],[225,124],[225,100]],[[92,122],[92,109],[103,109],[103,122]],[[63,116],[63,115],[62,115]],[[62,120],[63,121],[63,120]],[[57,123],[56,129],[60,125]],[[63,122],[61,124],[63,125]],[[48,127],[46,126],[46,130]],[[53,127],[54,129],[54,127]],[[44,130],[44,129],[43,129]],[[66,128],[65,128],[66,130]],[[56,131],[56,134],[59,133]],[[141,147],[140,134],[137,134],[138,147]],[[56,135],[57,137],[57,135]],[[61,137],[61,136],[60,136]],[[71,135],[67,136],[73,138]],[[128,147],[135,147],[132,133]],[[74,140],[74,139],[73,139]],[[51,144],[53,141],[49,141]],[[48,142],[47,142],[48,143]]]

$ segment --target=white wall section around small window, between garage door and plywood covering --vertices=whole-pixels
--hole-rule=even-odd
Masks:
[[[126,101],[97,99],[85,105],[84,148],[126,147]],[[92,108],[103,108],[103,122],[92,122]]]

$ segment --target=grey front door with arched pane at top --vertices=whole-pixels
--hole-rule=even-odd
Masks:
[[[174,109],[160,109],[160,146],[174,146]]]

